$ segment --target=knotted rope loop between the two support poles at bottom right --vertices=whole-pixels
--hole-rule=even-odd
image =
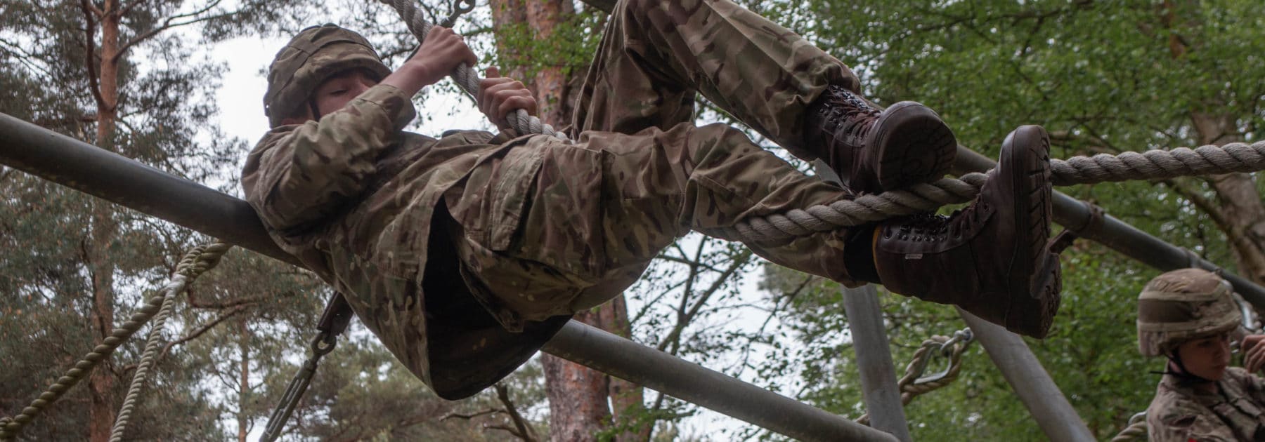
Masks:
[[[966,351],[973,340],[970,328],[966,328],[955,333],[954,337],[936,335],[922,341],[922,346],[913,352],[910,365],[904,367],[904,376],[896,383],[901,390],[901,405],[908,405],[913,398],[958,380],[958,374],[961,371],[961,354]],[[936,355],[949,357],[949,369],[925,379],[922,374],[926,371],[927,362]],[[869,413],[856,418],[856,423],[868,426]]]

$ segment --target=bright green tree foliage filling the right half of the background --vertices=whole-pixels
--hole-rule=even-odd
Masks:
[[[960,143],[988,155],[996,157],[1002,138],[1020,124],[1045,125],[1055,157],[1195,145],[1192,115],[1198,112],[1231,115],[1232,131],[1259,138],[1265,38],[1256,29],[1265,9],[1256,1],[1171,4],[825,0],[781,10],[811,13],[816,20],[794,21],[797,30],[854,66],[872,97],[926,102]],[[1189,200],[1216,200],[1202,181],[1061,191],[1214,263],[1233,263],[1225,234]],[[1069,250],[1063,265],[1064,302],[1054,332],[1028,343],[1106,439],[1154,395],[1157,376],[1149,370],[1161,364],[1137,354],[1133,299],[1159,272],[1098,245]],[[789,293],[802,278],[783,270],[767,275],[774,294]],[[863,405],[846,321],[834,313],[841,311],[839,301],[832,284],[799,292],[782,320],[802,349],[770,355],[777,362],[764,370],[797,373],[799,398],[856,415]],[[891,294],[883,304],[898,366],[923,337],[963,326],[945,306]],[[955,384],[907,407],[913,438],[1044,439],[978,345],[965,361]]]

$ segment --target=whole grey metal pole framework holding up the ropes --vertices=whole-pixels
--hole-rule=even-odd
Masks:
[[[5,114],[0,114],[0,163],[282,261],[301,265],[272,242],[258,216],[244,201]],[[994,164],[987,157],[959,146],[955,173],[982,172]],[[1073,230],[1090,224],[1089,206],[1066,194],[1055,192],[1054,211],[1055,222]],[[1217,269],[1214,264],[1194,256],[1188,250],[1164,242],[1111,216],[1104,216],[1098,229],[1082,236],[1161,270],[1192,265]],[[1223,277],[1246,301],[1265,308],[1265,289],[1228,272],[1223,272]],[[877,304],[869,308],[874,309]],[[875,313],[849,314],[854,326],[856,320],[867,316],[882,317]],[[963,312],[963,317],[970,323],[980,343],[988,350],[1020,399],[1037,418],[1046,436],[1055,441],[1092,439],[1084,422],[1079,419],[1018,336],[969,313]],[[879,331],[882,331],[880,325]],[[873,333],[868,331],[859,335],[865,340],[873,338],[869,336]],[[885,345],[884,342],[883,349],[887,349]],[[867,345],[867,349],[869,347]],[[897,439],[892,434],[582,323],[572,322],[563,327],[563,331],[545,346],[545,351],[787,436],[803,439],[841,437]],[[858,347],[858,357],[869,357],[861,354],[868,355],[870,351]],[[891,352],[887,354],[887,357],[879,354],[879,362],[874,364],[883,364],[882,360],[885,359],[885,364],[891,367]],[[863,366],[870,366],[870,362]],[[677,373],[668,375],[667,367]],[[894,369],[878,370],[894,375]],[[869,375],[863,374],[867,391],[873,389],[875,398],[885,394],[880,393],[883,386],[879,384],[883,383],[879,380],[867,383],[865,376]],[[870,403],[867,394],[868,407],[885,408],[880,405],[882,402],[875,399]],[[872,413],[872,419],[888,419],[893,415],[891,413],[887,410]],[[901,415],[903,417],[903,409]]]

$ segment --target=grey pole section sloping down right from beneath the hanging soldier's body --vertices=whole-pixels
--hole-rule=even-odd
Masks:
[[[802,441],[897,441],[892,434],[632,343],[576,321],[545,352]]]

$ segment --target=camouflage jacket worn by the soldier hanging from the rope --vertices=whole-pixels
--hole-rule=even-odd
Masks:
[[[440,139],[404,131],[415,115],[402,91],[374,86],[320,121],[268,131],[247,159],[242,186],[272,239],[342,292],[417,378],[455,399],[512,371],[565,318],[506,331],[467,302],[455,263],[440,266],[444,280],[423,284],[424,270],[434,272],[428,246],[444,192],[517,144],[487,131]],[[445,293],[428,298],[424,285]]]

